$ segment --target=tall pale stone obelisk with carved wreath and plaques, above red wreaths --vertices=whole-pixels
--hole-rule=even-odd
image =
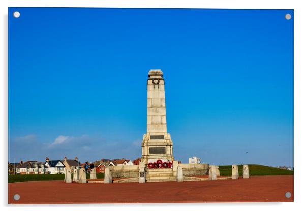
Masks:
[[[147,131],[142,140],[145,164],[173,161],[172,140],[167,133],[165,80],[160,69],[151,69],[147,79]]]

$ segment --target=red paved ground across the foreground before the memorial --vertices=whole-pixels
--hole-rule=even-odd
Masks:
[[[287,199],[285,192],[292,197]],[[13,199],[14,194],[20,200]],[[166,203],[293,201],[293,175],[159,183],[9,183],[9,203]]]

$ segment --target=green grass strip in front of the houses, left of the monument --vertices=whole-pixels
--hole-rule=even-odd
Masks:
[[[64,180],[64,174],[28,174],[28,175],[9,175],[9,183],[26,182],[26,181],[42,181],[42,180]],[[90,174],[86,175],[89,179]],[[71,175],[73,178],[73,174]],[[97,173],[97,178],[104,178],[104,173]]]

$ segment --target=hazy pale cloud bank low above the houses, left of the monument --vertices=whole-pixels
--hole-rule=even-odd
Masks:
[[[141,140],[127,142],[105,139],[91,135],[58,135],[51,140],[42,140],[36,135],[11,138],[11,162],[14,160],[44,161],[46,157],[57,160],[65,156],[69,159],[78,157],[81,162],[101,158],[135,159],[141,156]]]

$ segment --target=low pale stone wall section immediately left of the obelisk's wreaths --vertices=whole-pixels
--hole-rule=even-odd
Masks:
[[[139,177],[139,165],[109,166],[112,178],[136,178]]]

